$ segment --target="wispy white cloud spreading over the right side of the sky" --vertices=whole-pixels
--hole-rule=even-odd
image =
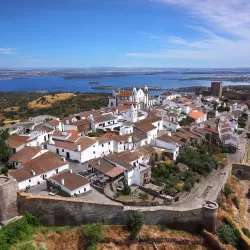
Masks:
[[[160,36],[160,51],[130,52],[126,56],[142,58],[206,61],[213,66],[250,66],[250,1],[249,0],[152,0],[177,5],[192,17],[203,19],[206,27],[185,25],[200,34],[200,39],[182,36]],[[207,28],[212,27],[212,28]],[[211,31],[213,30],[213,31]],[[220,35],[218,35],[220,34]],[[155,39],[155,38],[154,38]],[[181,66],[181,65],[180,65]],[[197,65],[202,66],[202,65]]]

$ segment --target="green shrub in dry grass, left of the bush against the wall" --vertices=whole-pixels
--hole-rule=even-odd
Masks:
[[[83,233],[88,246],[95,246],[103,239],[103,225],[99,222],[84,225]]]

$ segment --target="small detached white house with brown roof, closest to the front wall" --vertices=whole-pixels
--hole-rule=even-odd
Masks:
[[[52,176],[50,183],[59,186],[69,196],[84,194],[91,190],[88,179],[72,173],[72,171],[64,171]]]

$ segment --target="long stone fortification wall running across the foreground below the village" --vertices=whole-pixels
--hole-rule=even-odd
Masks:
[[[149,225],[162,224],[170,228],[194,231],[197,226],[203,224],[208,230],[213,230],[217,216],[217,209],[204,214],[205,210],[202,206],[195,209],[170,206],[130,207],[119,203],[91,203],[77,198],[31,194],[20,194],[18,200],[20,213],[31,212],[40,216],[43,223],[58,226],[77,226],[97,221],[104,224],[125,225],[130,216],[135,211],[139,211],[143,213],[145,223]]]

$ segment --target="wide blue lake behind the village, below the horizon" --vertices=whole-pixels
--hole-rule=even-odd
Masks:
[[[202,75],[206,76],[206,75]],[[211,75],[208,75],[211,76]],[[107,78],[86,78],[65,80],[58,76],[27,76],[12,80],[0,80],[0,91],[67,91],[67,92],[111,92],[111,90],[94,90],[93,86],[110,85],[115,88],[133,86],[156,86],[162,88],[177,88],[188,86],[210,86],[210,81],[206,80],[186,80],[178,81],[178,78],[198,77],[194,74],[134,74],[120,77]],[[164,80],[171,78],[171,80]],[[89,82],[101,82],[99,85],[91,85]],[[226,83],[225,85],[233,84]],[[241,83],[243,84],[243,83]],[[162,91],[160,91],[162,92]],[[150,91],[151,95],[158,94],[159,91]]]

